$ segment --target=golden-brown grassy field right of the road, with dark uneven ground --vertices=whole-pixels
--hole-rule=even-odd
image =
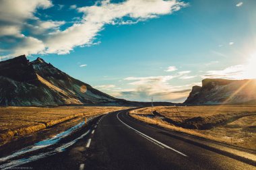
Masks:
[[[256,149],[256,105],[153,107],[133,118],[194,136]]]

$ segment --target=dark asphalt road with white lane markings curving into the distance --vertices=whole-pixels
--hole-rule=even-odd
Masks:
[[[84,131],[84,132],[83,132]],[[113,112],[75,134],[65,151],[20,165],[23,169],[256,169],[253,165],[172,137],[175,132]],[[40,153],[37,153],[37,155]]]

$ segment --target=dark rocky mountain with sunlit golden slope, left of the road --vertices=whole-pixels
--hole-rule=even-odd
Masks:
[[[122,105],[128,101],[102,93],[42,58],[25,55],[0,62],[0,105]]]

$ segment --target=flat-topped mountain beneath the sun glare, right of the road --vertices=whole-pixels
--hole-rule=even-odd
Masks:
[[[256,103],[256,80],[203,79],[184,102],[191,105]]]

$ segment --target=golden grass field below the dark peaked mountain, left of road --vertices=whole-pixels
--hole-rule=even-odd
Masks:
[[[98,116],[122,107],[6,107],[0,108],[0,146],[72,119]]]

